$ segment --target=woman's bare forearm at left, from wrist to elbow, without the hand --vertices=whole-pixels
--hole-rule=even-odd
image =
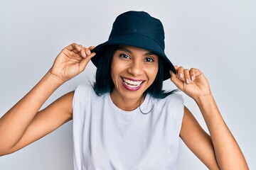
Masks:
[[[43,103],[58,86],[60,81],[48,72],[26,96],[0,118],[0,152],[16,145]]]

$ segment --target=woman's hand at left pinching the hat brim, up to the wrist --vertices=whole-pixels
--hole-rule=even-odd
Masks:
[[[95,56],[94,49],[91,47],[82,47],[82,45],[71,44],[65,47],[60,54],[56,57],[53,67],[49,72],[53,75],[60,84],[72,79],[85,70],[90,59]]]

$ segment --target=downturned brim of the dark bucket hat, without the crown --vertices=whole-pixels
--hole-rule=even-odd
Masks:
[[[107,42],[97,45],[92,50],[92,52],[96,53],[96,55],[92,57],[92,63],[95,64],[96,67],[100,57],[102,56],[102,52],[104,52],[108,45],[130,45],[154,52],[164,59],[164,80],[170,78],[169,70],[176,73],[174,65],[171,63],[168,57],[166,57],[164,50],[161,49],[160,45],[151,38],[138,34],[118,35],[110,40],[107,40]]]

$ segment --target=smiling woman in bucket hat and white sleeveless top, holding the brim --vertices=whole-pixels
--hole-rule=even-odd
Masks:
[[[90,60],[97,66],[93,87],[80,84],[39,111]],[[210,135],[180,95],[162,91],[169,78],[196,101]],[[174,67],[164,53],[161,21],[145,12],[122,13],[109,40],[97,47],[65,47],[43,79],[0,119],[0,154],[71,119],[75,169],[176,169],[179,137],[208,169],[248,169],[206,77],[198,69]]]

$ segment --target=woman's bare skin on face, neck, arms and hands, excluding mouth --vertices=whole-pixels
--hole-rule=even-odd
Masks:
[[[93,48],[75,43],[65,47],[41,81],[0,118],[0,155],[15,152],[72,120],[74,91],[61,96],[43,110],[39,109],[59,86],[85,69],[95,55],[91,52]],[[150,58],[154,62],[150,62]],[[112,62],[115,88],[110,94],[114,104],[125,111],[137,108],[139,98],[154,81],[157,62],[158,57],[147,50],[130,46],[117,50]],[[248,169],[235,138],[218,111],[206,77],[195,68],[175,68],[177,74],[170,72],[171,81],[196,101],[210,132],[208,135],[185,107],[180,133],[183,142],[208,169]],[[139,79],[144,83],[135,93],[124,89],[120,77]]]

